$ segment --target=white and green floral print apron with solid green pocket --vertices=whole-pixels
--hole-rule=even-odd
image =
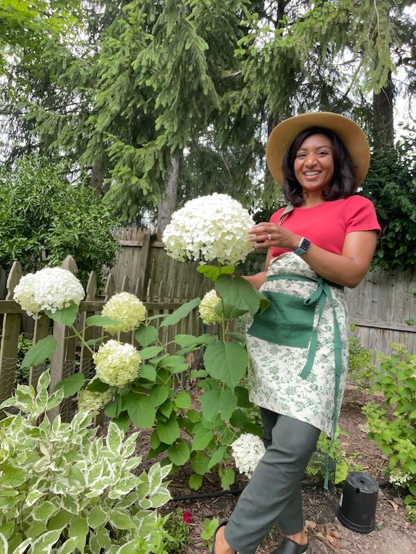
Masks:
[[[247,330],[250,400],[333,438],[348,368],[343,288],[288,252],[271,260],[260,290],[272,304]]]

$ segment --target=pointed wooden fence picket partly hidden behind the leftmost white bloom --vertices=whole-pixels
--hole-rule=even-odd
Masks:
[[[74,275],[78,273],[78,267],[72,256],[67,256],[61,265],[62,269],[68,269]],[[75,360],[75,337],[69,338],[73,335],[73,332],[69,330],[64,323],[59,321],[53,321],[53,337],[56,339],[56,348],[53,351],[51,359],[51,384],[49,385],[49,393],[53,391],[53,388],[64,377],[67,377],[73,371],[73,364]],[[52,421],[58,413],[70,416],[71,413],[71,401],[64,400],[60,406],[51,409],[49,411],[49,419]]]

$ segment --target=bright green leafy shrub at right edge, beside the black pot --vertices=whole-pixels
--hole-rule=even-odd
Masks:
[[[392,355],[379,354],[380,369],[374,391],[383,393],[385,406],[372,402],[363,407],[374,438],[388,470],[395,468],[410,475],[408,489],[416,494],[416,355],[403,344],[392,343]],[[391,415],[390,415],[391,414]]]

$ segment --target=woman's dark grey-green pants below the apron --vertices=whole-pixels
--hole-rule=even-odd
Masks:
[[[261,408],[266,454],[257,465],[225,527],[240,554],[254,554],[274,524],[285,535],[303,528],[301,481],[320,430]]]

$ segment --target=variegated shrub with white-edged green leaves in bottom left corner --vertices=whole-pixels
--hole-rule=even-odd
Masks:
[[[18,385],[0,408],[17,409],[0,421],[0,544],[10,554],[166,553],[146,549],[159,526],[156,509],[170,499],[163,479],[170,466],[132,473],[138,434],[125,438],[113,422],[104,438],[92,418],[77,413],[70,423],[46,411],[58,406],[62,390],[48,395],[49,373],[37,393]],[[124,544],[141,544],[136,550]],[[123,548],[123,550],[121,550]]]

